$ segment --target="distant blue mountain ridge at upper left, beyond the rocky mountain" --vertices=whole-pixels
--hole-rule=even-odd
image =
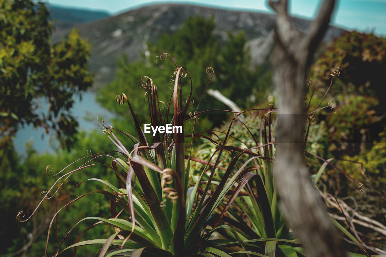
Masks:
[[[95,11],[89,9],[66,8],[58,5],[49,5],[50,20],[54,21],[56,32],[72,29],[80,24],[95,22],[110,17],[106,11]]]

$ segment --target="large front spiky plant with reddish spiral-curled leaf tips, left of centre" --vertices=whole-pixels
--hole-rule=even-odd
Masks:
[[[166,60],[167,56],[168,55],[163,54],[160,56],[160,59]],[[213,76],[213,69],[208,68],[207,73],[211,73]],[[233,233],[238,240],[232,244],[228,242],[228,247],[226,248],[228,250],[219,249],[218,245],[220,245],[219,242],[222,242],[221,240],[215,244],[207,244],[207,241],[204,240],[204,234],[208,226],[208,220],[213,216],[215,210],[222,203],[223,197],[229,189],[237,183],[240,174],[243,172],[243,167],[237,168],[235,166],[237,160],[241,155],[248,153],[241,151],[230,160],[226,168],[222,167],[225,173],[217,185],[213,186],[213,183],[211,183],[214,174],[213,171],[219,168],[218,163],[225,148],[225,144],[222,144],[216,149],[217,158],[213,161],[212,158],[206,161],[206,167],[201,173],[200,180],[197,181],[193,187],[189,187],[190,162],[198,161],[191,158],[190,153],[193,141],[199,137],[198,134],[195,134],[195,125],[196,117],[200,114],[197,113],[200,102],[198,103],[196,112],[187,115],[188,107],[192,102],[193,86],[190,74],[185,67],[177,67],[174,76],[173,94],[171,95],[169,103],[166,104],[159,101],[157,87],[151,78],[143,77],[141,84],[144,87],[145,99],[149,105],[149,122],[151,125],[155,127],[173,122],[174,126],[182,127],[182,133],[176,131],[172,135],[159,133],[157,131],[152,136],[151,141],[147,140],[134,108],[130,104],[130,97],[127,97],[125,94],[120,94],[116,97],[116,101],[119,102],[119,104],[127,103],[136,128],[137,138],[113,129],[111,126],[106,127],[104,123],[102,123],[103,132],[107,134],[108,138],[115,144],[118,151],[90,154],[85,157],[86,159],[80,159],[87,161],[79,168],[61,176],[55,183],[55,185],[59,185],[60,187],[61,183],[64,183],[64,181],[74,173],[93,165],[100,165],[93,163],[98,160],[100,156],[108,156],[112,159],[111,165],[108,165],[108,167],[117,177],[117,185],[113,185],[100,178],[90,178],[86,180],[98,181],[107,188],[95,190],[90,193],[100,193],[110,199],[111,217],[83,218],[68,232],[68,234],[72,232],[80,222],[94,220],[96,223],[86,230],[100,223],[104,223],[114,228],[114,233],[107,239],[81,241],[83,233],[86,232],[85,230],[80,233],[75,244],[60,250],[64,240],[66,240],[66,236],[63,240],[58,240],[58,249],[54,253],[55,256],[69,248],[73,248],[74,255],[76,255],[77,247],[92,244],[101,245],[99,256],[128,254],[132,256],[212,256],[212,254],[229,256],[228,254],[232,252],[232,250],[229,250],[229,247],[234,245],[240,245],[242,250],[246,250],[242,239],[237,232],[235,232],[234,228],[228,227],[227,229]],[[188,84],[190,84],[190,91],[186,101],[183,101],[183,86],[186,84],[186,80]],[[171,120],[169,120],[169,110],[171,111],[171,108],[173,109],[173,114],[171,115]],[[192,133],[186,134],[184,131],[185,122],[190,119],[194,120]],[[237,116],[233,120],[235,119],[237,119]],[[121,136],[133,141],[133,149],[130,151],[127,150],[123,140],[119,139],[118,134],[116,135],[117,131]],[[227,140],[229,131],[230,127],[226,133],[224,142]],[[189,142],[185,143],[185,138],[187,138]],[[210,175],[206,186],[201,186],[205,185],[201,182],[203,174],[209,167],[212,169],[212,175]],[[80,182],[70,191],[86,181]],[[55,193],[55,185],[48,190],[48,193],[46,193],[42,201],[47,199],[50,193]],[[61,202],[59,202],[58,210],[54,218],[52,218],[51,225],[53,221],[56,220],[56,227],[58,229],[58,213],[71,203],[90,193],[81,195],[60,208]],[[29,218],[26,220],[28,219]],[[50,232],[47,237],[47,244],[49,235]],[[227,251],[228,254],[225,253],[225,251]]]

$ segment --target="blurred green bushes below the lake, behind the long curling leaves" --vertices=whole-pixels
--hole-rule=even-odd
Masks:
[[[113,180],[114,177],[109,176],[107,168],[102,165],[94,166],[88,169],[89,173],[77,173],[71,176],[63,188],[59,189],[51,200],[47,200],[39,207],[38,212],[32,217],[31,222],[20,223],[15,217],[21,210],[26,216],[32,214],[39,202],[42,200],[42,191],[47,191],[55,179],[46,175],[45,170],[47,165],[52,165],[53,170],[47,174],[56,173],[58,168],[62,168],[71,163],[76,156],[85,155],[91,151],[95,153],[103,151],[106,147],[106,138],[99,131],[86,134],[81,132],[77,134],[77,140],[71,152],[59,150],[56,153],[38,154],[30,144],[27,144],[27,156],[20,160],[12,148],[10,141],[6,148],[0,151],[0,212],[6,225],[1,227],[1,234],[7,235],[0,242],[0,256],[9,256],[17,252],[29,242],[27,249],[28,256],[43,256],[44,248],[47,240],[47,228],[51,221],[52,215],[55,213],[56,203],[59,195],[63,195],[72,186],[85,180],[89,176],[103,176],[106,180]],[[106,162],[106,158],[100,158],[101,163]],[[72,165],[70,167],[76,168]],[[49,170],[49,169],[48,169]],[[64,202],[68,202],[95,188],[95,183],[83,183],[76,192],[71,192],[64,198]],[[23,199],[20,201],[20,199]],[[74,203],[71,208],[62,212],[58,218],[61,225],[71,227],[74,225],[74,220],[84,217],[86,214],[93,213],[94,215],[102,215],[108,213],[109,205],[106,205],[105,198],[94,196],[92,200],[85,199]],[[87,206],[87,208],[83,208]],[[86,227],[83,227],[85,229]],[[103,235],[106,231],[98,229],[96,231]],[[59,230],[59,237],[65,236],[65,231]],[[75,240],[75,237],[70,235],[69,240]],[[54,245],[49,245],[48,250],[54,252]],[[92,252],[92,247],[82,249],[80,254],[86,256],[86,253]]]

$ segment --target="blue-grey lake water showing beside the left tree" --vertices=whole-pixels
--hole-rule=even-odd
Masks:
[[[79,123],[78,130],[91,131],[92,129],[100,129],[97,123],[97,116],[99,115],[99,124],[101,118],[109,123],[108,118],[112,118],[113,114],[103,108],[99,103],[95,101],[94,92],[84,92],[82,94],[82,101],[79,96],[74,97],[74,105],[72,110],[73,115]],[[45,106],[48,108],[48,106]],[[19,155],[25,156],[25,143],[27,141],[33,142],[33,147],[38,153],[52,152],[54,148],[59,146],[58,140],[51,134],[46,134],[44,128],[34,128],[32,124],[25,125],[24,128],[20,128],[14,138],[15,150]]]

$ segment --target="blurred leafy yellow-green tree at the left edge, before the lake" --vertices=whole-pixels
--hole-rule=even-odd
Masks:
[[[73,30],[51,45],[44,3],[0,0],[0,144],[23,124],[55,131],[61,146],[73,143],[78,122],[73,95],[92,85],[90,44]],[[45,103],[48,110],[43,109]]]

